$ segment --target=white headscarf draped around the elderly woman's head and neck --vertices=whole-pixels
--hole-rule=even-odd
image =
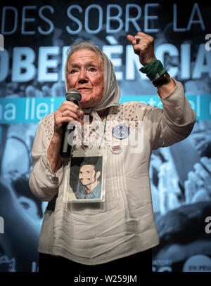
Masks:
[[[103,110],[105,108],[109,108],[110,106],[119,105],[120,101],[120,87],[117,83],[117,79],[115,76],[115,68],[113,63],[110,61],[106,53],[102,53],[103,62],[104,62],[104,95],[101,101],[94,106],[93,108],[84,108],[84,113],[90,113],[92,117],[98,118],[97,112],[98,110]],[[65,71],[67,70],[68,60],[65,63]],[[68,91],[68,84],[65,74],[65,87],[66,91]]]

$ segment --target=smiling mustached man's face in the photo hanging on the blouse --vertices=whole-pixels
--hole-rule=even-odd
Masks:
[[[99,172],[100,173],[100,172]],[[91,183],[95,183],[98,178],[98,172],[94,170],[94,165],[84,165],[79,171],[79,180],[82,185],[88,186]]]

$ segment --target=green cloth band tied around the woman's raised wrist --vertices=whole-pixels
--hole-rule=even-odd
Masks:
[[[160,60],[151,60],[150,63],[145,65],[144,67],[141,67],[140,72],[143,72],[146,74],[146,76],[151,80],[158,79],[162,76],[162,74],[165,74],[167,70],[163,67]]]

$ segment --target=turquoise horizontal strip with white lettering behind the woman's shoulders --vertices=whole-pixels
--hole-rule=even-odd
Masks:
[[[191,95],[187,98],[196,112],[197,120],[211,119],[211,95]],[[64,98],[0,98],[0,124],[37,123],[50,112],[56,111]],[[162,108],[157,95],[121,96],[120,103],[139,101]]]

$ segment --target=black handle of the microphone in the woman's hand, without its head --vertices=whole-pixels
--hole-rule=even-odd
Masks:
[[[76,105],[79,104],[77,100],[69,100],[69,101],[71,101],[72,103],[75,103]],[[63,124],[63,136],[62,136],[62,141],[60,145],[60,156],[63,158],[70,158],[72,145],[68,143],[68,136],[70,132],[74,132],[75,130],[75,126],[73,126],[72,129],[68,129],[68,124],[69,123]],[[73,138],[73,135],[72,135],[72,138]]]

